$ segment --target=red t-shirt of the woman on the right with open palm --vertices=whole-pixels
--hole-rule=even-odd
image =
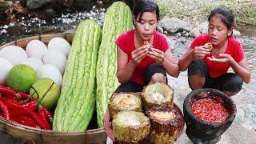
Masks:
[[[208,34],[201,34],[194,41],[191,43],[191,48],[194,49],[195,46],[203,46],[206,42],[210,42],[210,37]],[[241,42],[238,41],[237,38],[229,37],[228,44],[226,47],[225,54],[230,54],[231,57],[234,58],[235,62],[240,62],[243,58],[245,58],[245,54],[242,49]],[[205,58],[203,58],[204,62],[208,67],[208,73],[210,77],[216,78],[221,76],[222,74],[226,74],[227,70],[230,68],[229,63],[218,63],[218,62],[211,62],[208,57],[212,57],[211,54],[207,54]]]

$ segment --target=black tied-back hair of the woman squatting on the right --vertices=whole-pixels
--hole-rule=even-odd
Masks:
[[[208,22],[210,22],[210,18],[214,16],[221,18],[222,22],[226,25],[228,30],[234,26],[234,14],[232,10],[227,9],[224,6],[218,6],[210,12]]]

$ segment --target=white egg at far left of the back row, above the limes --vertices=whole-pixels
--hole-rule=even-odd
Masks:
[[[5,58],[14,65],[21,64],[27,60],[26,51],[20,46],[6,46],[0,50],[0,58]]]

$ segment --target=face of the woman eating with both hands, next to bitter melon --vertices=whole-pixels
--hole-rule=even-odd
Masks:
[[[157,16],[152,12],[144,12],[141,15],[141,21],[139,21],[139,16],[136,18],[136,31],[143,41],[150,41],[153,37],[154,30],[157,28]]]

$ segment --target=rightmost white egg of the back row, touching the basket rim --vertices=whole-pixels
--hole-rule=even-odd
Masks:
[[[70,52],[70,43],[66,41],[64,38],[52,38],[50,39],[50,42],[48,43],[48,49],[54,49],[59,50],[63,54],[65,54],[66,58],[69,55]]]

